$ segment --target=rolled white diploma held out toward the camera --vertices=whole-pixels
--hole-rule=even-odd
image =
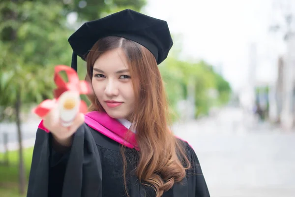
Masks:
[[[74,91],[66,91],[58,99],[59,118],[63,127],[72,125],[80,110],[80,94]]]

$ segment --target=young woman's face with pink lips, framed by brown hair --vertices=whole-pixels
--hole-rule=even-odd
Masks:
[[[128,119],[133,113],[135,96],[128,68],[120,48],[104,53],[93,66],[94,93],[112,118]]]

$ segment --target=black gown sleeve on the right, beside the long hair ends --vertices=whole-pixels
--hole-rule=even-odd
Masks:
[[[188,170],[188,196],[189,197],[210,197],[207,183],[194,149],[185,142],[185,149],[192,168]]]

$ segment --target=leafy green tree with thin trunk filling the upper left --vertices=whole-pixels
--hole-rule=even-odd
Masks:
[[[21,194],[26,184],[20,113],[24,106],[52,98],[53,66],[70,65],[67,38],[83,21],[124,8],[139,10],[144,4],[145,0],[0,1],[0,114],[18,128]],[[77,26],[67,23],[71,12],[77,13]],[[7,108],[14,113],[4,113]]]

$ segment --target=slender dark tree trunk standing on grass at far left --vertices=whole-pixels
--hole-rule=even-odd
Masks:
[[[16,126],[17,126],[17,135],[19,142],[19,191],[21,195],[25,194],[26,188],[26,175],[25,175],[25,162],[24,162],[24,153],[23,153],[23,139],[21,131],[21,90],[17,90],[17,98],[15,102],[15,113],[16,113]]]

